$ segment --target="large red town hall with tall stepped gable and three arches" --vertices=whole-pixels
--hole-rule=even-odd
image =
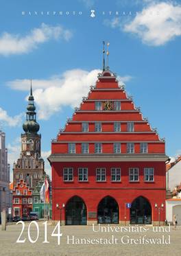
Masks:
[[[51,143],[53,220],[164,222],[166,160],[164,139],[104,69]]]

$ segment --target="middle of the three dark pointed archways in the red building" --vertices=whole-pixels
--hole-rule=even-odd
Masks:
[[[111,196],[106,196],[99,202],[97,208],[97,222],[102,224],[119,223],[119,205]]]

